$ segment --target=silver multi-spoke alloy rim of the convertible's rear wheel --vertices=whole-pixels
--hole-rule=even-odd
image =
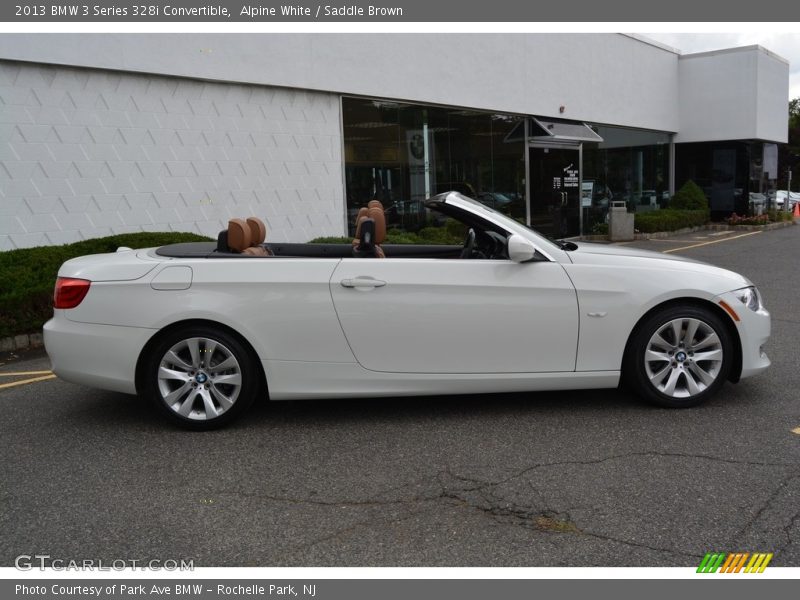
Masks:
[[[224,344],[192,337],[172,346],[158,366],[161,399],[178,415],[214,419],[229,410],[242,389],[239,361]]]

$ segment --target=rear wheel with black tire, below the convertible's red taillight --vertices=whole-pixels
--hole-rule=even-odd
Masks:
[[[185,429],[227,425],[262,393],[258,361],[221,328],[168,331],[147,351],[144,394],[163,416]]]

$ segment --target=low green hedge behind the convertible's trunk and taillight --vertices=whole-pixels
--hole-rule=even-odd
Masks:
[[[120,246],[149,248],[210,241],[193,233],[125,233],[65,244],[0,252],[0,337],[38,331],[53,315],[53,286],[61,264]]]

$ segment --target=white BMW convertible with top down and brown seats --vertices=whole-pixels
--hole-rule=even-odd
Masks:
[[[373,203],[371,203],[373,204]],[[456,192],[426,202],[463,246],[382,245],[379,205],[349,244],[268,244],[258,219],[217,243],[64,263],[54,372],[143,394],[209,429],[258,397],[613,388],[696,405],[766,369],[770,316],[746,278],[602,244],[554,243]]]

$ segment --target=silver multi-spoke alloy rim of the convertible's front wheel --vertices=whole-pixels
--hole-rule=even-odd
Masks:
[[[708,323],[693,317],[672,319],[647,342],[645,374],[662,394],[691,398],[717,380],[722,359],[722,342]]]

